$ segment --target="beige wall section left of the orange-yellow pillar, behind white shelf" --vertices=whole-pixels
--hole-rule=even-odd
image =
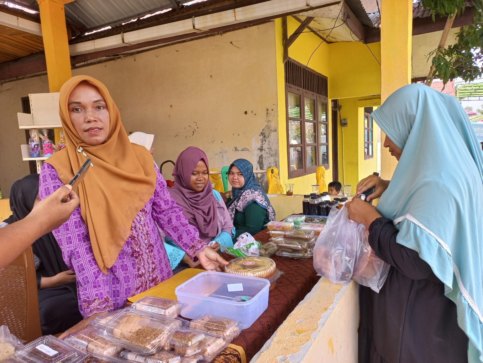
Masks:
[[[20,145],[26,144],[25,130],[18,128],[17,112],[22,112],[21,97],[49,91],[47,76],[0,85],[0,189],[8,198],[12,183],[29,174],[28,162],[22,161]]]

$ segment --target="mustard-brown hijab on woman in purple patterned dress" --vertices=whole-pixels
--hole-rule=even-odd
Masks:
[[[69,117],[69,95],[82,81],[99,89],[109,111],[109,136],[101,145],[86,144]],[[75,76],[64,83],[60,89],[59,114],[67,146],[49,157],[46,163],[57,170],[65,184],[85,163],[83,152],[92,159],[93,167],[89,168],[76,192],[81,199],[82,218],[89,229],[94,257],[99,269],[107,273],[129,237],[134,217],[155,191],[153,157],[145,147],[130,143],[118,108],[107,88],[97,79]],[[79,148],[83,152],[78,152]]]

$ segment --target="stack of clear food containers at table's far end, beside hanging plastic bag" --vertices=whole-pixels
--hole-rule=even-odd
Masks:
[[[324,229],[325,216],[291,215],[283,222],[272,221],[266,226],[270,241],[260,250],[260,256],[278,256],[294,259],[308,259],[313,256],[313,246]]]

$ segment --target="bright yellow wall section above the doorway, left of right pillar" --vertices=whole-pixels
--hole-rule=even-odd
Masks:
[[[327,45],[329,98],[381,94],[381,43],[340,42]]]

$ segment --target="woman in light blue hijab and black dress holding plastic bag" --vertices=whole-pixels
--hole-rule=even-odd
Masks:
[[[372,113],[398,159],[347,203],[392,267],[379,294],[360,288],[359,362],[483,362],[483,152],[454,97],[412,84]]]

